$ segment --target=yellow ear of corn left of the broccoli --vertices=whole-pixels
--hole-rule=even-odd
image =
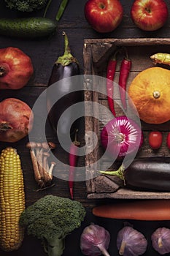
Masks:
[[[24,230],[19,225],[25,209],[23,172],[15,148],[4,148],[0,155],[0,247],[4,251],[18,249]]]

